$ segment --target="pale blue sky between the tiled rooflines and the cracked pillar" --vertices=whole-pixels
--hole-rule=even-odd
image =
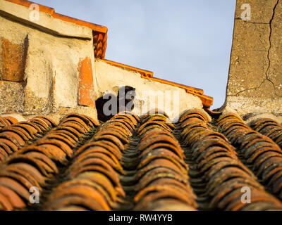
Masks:
[[[106,58],[225,99],[235,0],[34,0],[108,27]]]

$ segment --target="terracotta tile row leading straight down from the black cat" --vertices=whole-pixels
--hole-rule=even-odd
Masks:
[[[125,197],[119,179],[124,174],[120,160],[134,124],[135,118],[127,114],[116,115],[102,124],[89,143],[77,150],[66,169],[67,181],[54,189],[44,209],[67,210],[73,205],[85,210],[118,207],[120,198]]]

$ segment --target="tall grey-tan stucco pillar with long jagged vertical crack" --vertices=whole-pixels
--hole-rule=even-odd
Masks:
[[[250,4],[250,21],[242,4]],[[237,1],[226,105],[240,115],[282,113],[281,0]]]

